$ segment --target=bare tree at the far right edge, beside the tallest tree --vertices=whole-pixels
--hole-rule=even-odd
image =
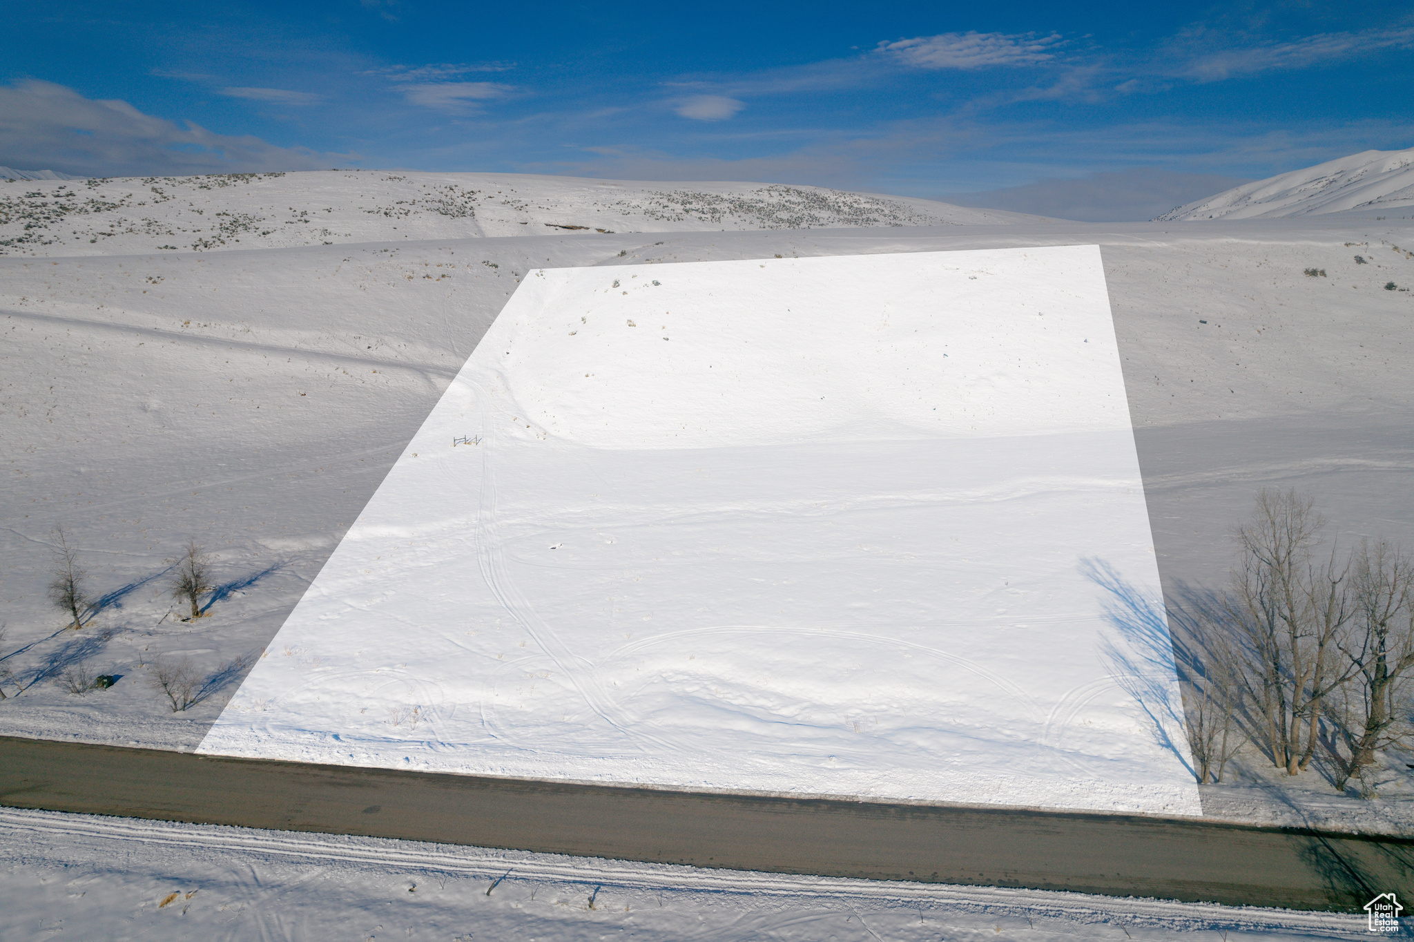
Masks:
[[[1353,595],[1356,617],[1340,648],[1355,672],[1332,750],[1343,767],[1339,786],[1407,731],[1400,704],[1414,675],[1414,557],[1384,539],[1362,543]],[[1349,757],[1340,754],[1342,741]]]

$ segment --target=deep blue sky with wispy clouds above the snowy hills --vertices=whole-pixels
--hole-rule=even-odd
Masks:
[[[11,4],[0,50],[0,165],[74,174],[749,180],[1140,218],[1414,146],[1414,11],[1389,3],[61,0]]]

